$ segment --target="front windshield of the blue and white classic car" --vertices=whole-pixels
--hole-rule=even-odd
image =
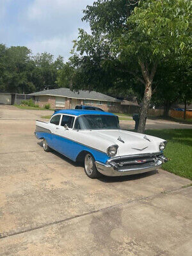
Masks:
[[[110,115],[83,115],[76,119],[74,129],[101,130],[120,129],[117,116]]]

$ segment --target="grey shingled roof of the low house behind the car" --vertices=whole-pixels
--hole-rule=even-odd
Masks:
[[[53,90],[44,90],[41,92],[30,93],[29,95],[50,95],[50,96],[60,96],[74,99],[91,99],[91,100],[104,100],[112,102],[121,102],[121,100],[115,99],[103,93],[95,91],[83,91],[79,90],[78,92],[71,91],[69,88],[59,88]]]

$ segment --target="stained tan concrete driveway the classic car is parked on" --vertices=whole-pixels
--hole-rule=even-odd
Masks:
[[[0,105],[0,256],[192,255],[190,180],[163,170],[88,179],[44,152],[40,112]]]

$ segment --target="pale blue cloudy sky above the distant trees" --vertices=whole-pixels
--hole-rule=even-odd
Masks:
[[[82,22],[82,10],[93,0],[0,0],[0,44],[26,46],[33,54],[50,52],[67,61],[78,28],[89,31]]]

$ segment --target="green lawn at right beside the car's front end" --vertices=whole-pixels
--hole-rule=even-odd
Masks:
[[[192,129],[147,130],[146,134],[168,141],[164,155],[170,161],[163,170],[192,180]]]

